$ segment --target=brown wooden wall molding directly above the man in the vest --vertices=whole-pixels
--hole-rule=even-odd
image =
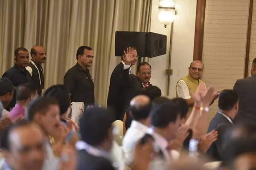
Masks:
[[[202,61],[206,0],[197,0],[195,17],[194,60]]]

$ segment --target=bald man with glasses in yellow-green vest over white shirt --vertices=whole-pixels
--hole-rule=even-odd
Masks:
[[[189,66],[189,74],[186,77],[180,79],[176,84],[177,97],[186,99],[189,106],[193,106],[194,104],[194,101],[190,97],[189,91],[192,91],[195,94],[199,83],[204,82],[203,80],[201,80],[203,71],[203,63],[201,61],[195,60]],[[216,94],[214,100],[217,98],[218,94]],[[214,100],[212,101],[212,103],[214,102]]]

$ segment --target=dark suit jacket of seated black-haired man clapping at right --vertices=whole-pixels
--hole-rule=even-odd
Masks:
[[[212,130],[218,131],[218,139],[212,143],[207,151],[207,155],[211,156],[215,161],[223,161],[223,152],[222,152],[222,144],[224,135],[228,128],[230,128],[233,124],[228,121],[226,117],[222,114],[217,113],[210,122],[208,132]]]

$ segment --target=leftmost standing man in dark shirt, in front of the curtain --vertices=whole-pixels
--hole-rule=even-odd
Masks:
[[[29,71],[26,70],[26,66],[29,62],[29,52],[26,48],[19,47],[15,50],[15,65],[7,70],[2,77],[6,77],[11,80],[12,84],[17,87],[23,83],[32,83],[32,77],[29,74]],[[6,110],[10,111],[16,104],[16,93],[13,95],[12,102],[6,108]]]

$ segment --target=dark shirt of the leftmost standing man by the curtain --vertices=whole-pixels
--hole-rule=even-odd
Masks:
[[[7,70],[2,77],[6,77],[9,80],[11,80],[12,84],[17,87],[20,84],[24,84],[24,83],[33,83],[32,82],[32,77],[29,74],[29,71],[27,71],[26,69],[24,69],[24,71],[22,71],[20,69],[19,66],[17,66],[16,64],[10,68],[9,70]],[[13,108],[16,104],[16,92],[13,95],[13,99],[12,102],[9,104],[8,108],[6,108],[7,110],[9,110],[9,108]]]

